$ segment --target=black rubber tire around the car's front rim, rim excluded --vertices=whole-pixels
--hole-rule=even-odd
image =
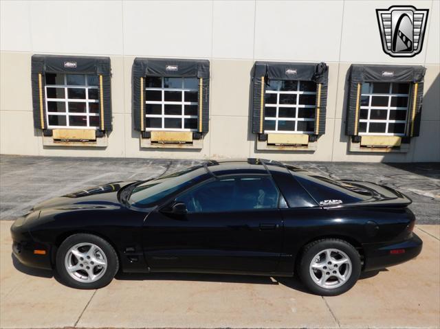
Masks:
[[[105,258],[107,258],[107,269],[104,271],[102,276],[94,282],[80,282],[74,279],[74,277],[72,277],[66,269],[65,257],[67,252],[70,248],[81,243],[91,243],[96,245],[104,253]],[[74,234],[65,239],[61,246],[58,248],[58,251],[56,252],[55,266],[58,277],[61,282],[63,282],[63,284],[66,284],[67,286],[70,286],[72,288],[96,289],[107,286],[107,284],[109,284],[111,280],[113,280],[113,277],[119,269],[119,260],[115,249],[113,249],[109,242],[107,242],[103,238],[100,238],[99,236],[95,236],[93,234]]]

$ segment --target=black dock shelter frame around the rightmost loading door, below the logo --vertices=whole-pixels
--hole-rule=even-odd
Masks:
[[[410,83],[408,102],[408,137],[419,135],[421,105],[423,100],[423,78],[426,68],[408,65],[360,65],[353,64],[349,73],[349,99],[347,106],[346,134],[358,135],[360,94],[364,82]]]

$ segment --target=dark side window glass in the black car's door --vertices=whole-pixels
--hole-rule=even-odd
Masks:
[[[232,212],[278,208],[278,189],[270,177],[234,177],[210,181],[176,198],[188,212]]]

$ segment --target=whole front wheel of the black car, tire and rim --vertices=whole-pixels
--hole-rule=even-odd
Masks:
[[[107,286],[118,271],[115,249],[93,234],[69,236],[56,253],[56,271],[67,286],[96,289]]]

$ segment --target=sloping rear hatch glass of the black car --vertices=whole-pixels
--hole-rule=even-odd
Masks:
[[[371,193],[366,190],[326,177],[314,174],[297,174],[296,179],[318,203],[328,200],[354,203],[371,198]]]

